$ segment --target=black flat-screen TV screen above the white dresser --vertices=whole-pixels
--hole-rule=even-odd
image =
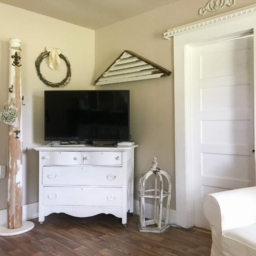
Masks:
[[[130,91],[45,91],[46,141],[128,141]]]

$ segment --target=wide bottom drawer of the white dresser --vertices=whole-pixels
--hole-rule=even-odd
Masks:
[[[43,205],[122,206],[122,188],[43,187]]]

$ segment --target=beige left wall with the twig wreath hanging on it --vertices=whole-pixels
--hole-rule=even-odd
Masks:
[[[61,48],[72,69],[70,83],[61,90],[95,89],[95,31],[23,9],[0,4],[0,111],[8,97],[9,37],[22,40],[23,112],[23,204],[38,201],[38,152],[33,150],[44,141],[44,102],[47,87],[39,80],[35,59],[45,46]],[[46,61],[41,72],[52,82],[65,77],[63,62],[58,71],[50,70]],[[26,152],[28,148],[28,152]],[[0,122],[0,165],[7,165],[7,125]],[[6,208],[7,178],[0,179],[0,210]]]

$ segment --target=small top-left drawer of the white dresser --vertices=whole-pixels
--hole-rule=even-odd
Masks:
[[[43,165],[81,165],[82,152],[44,151]]]

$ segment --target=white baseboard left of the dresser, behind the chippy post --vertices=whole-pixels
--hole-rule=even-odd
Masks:
[[[22,206],[22,220],[33,219],[38,217],[38,202],[24,204]],[[7,220],[7,210],[0,210],[0,225],[5,224]]]

